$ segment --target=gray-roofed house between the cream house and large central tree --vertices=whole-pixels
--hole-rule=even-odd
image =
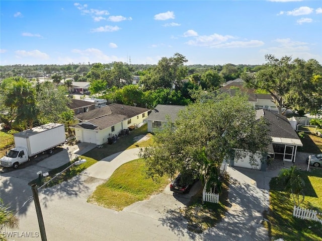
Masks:
[[[185,106],[176,105],[157,105],[146,119],[147,131],[157,132],[162,129],[167,123],[167,116],[169,116],[172,121],[175,121],[178,112],[185,108]]]

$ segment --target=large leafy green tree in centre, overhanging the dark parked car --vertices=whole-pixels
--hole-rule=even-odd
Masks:
[[[255,165],[257,151],[266,152],[270,137],[264,118],[256,120],[256,112],[246,97],[217,96],[215,100],[198,101],[179,112],[178,118],[168,120],[163,131],[154,135],[154,143],[140,151],[146,159],[151,177],[176,173],[201,176],[209,185],[217,185],[224,158],[241,158],[247,150]]]

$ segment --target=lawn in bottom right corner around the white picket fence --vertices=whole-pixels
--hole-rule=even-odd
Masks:
[[[305,199],[301,207],[322,212],[322,169],[302,171],[305,181]],[[269,233],[273,239],[322,240],[321,223],[293,217],[293,199],[283,192],[277,178],[270,182],[270,211],[268,214]],[[322,216],[319,216],[322,219]]]

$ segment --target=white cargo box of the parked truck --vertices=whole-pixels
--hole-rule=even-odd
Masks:
[[[14,134],[16,147],[25,147],[33,156],[65,142],[63,124],[49,123]]]

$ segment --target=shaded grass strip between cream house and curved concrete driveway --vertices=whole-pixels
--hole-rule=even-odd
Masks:
[[[136,137],[138,136],[149,136],[150,138],[140,141],[137,140]],[[109,155],[112,155],[114,153],[126,150],[126,149],[131,149],[131,148],[136,148],[136,147],[145,147],[148,146],[150,143],[153,142],[153,136],[150,133],[147,133],[147,124],[144,124],[140,128],[134,129],[130,131],[129,135],[121,136],[118,138],[116,143],[113,144],[103,144],[102,148],[94,148],[84,155],[87,157],[91,157],[96,160],[101,160]]]

